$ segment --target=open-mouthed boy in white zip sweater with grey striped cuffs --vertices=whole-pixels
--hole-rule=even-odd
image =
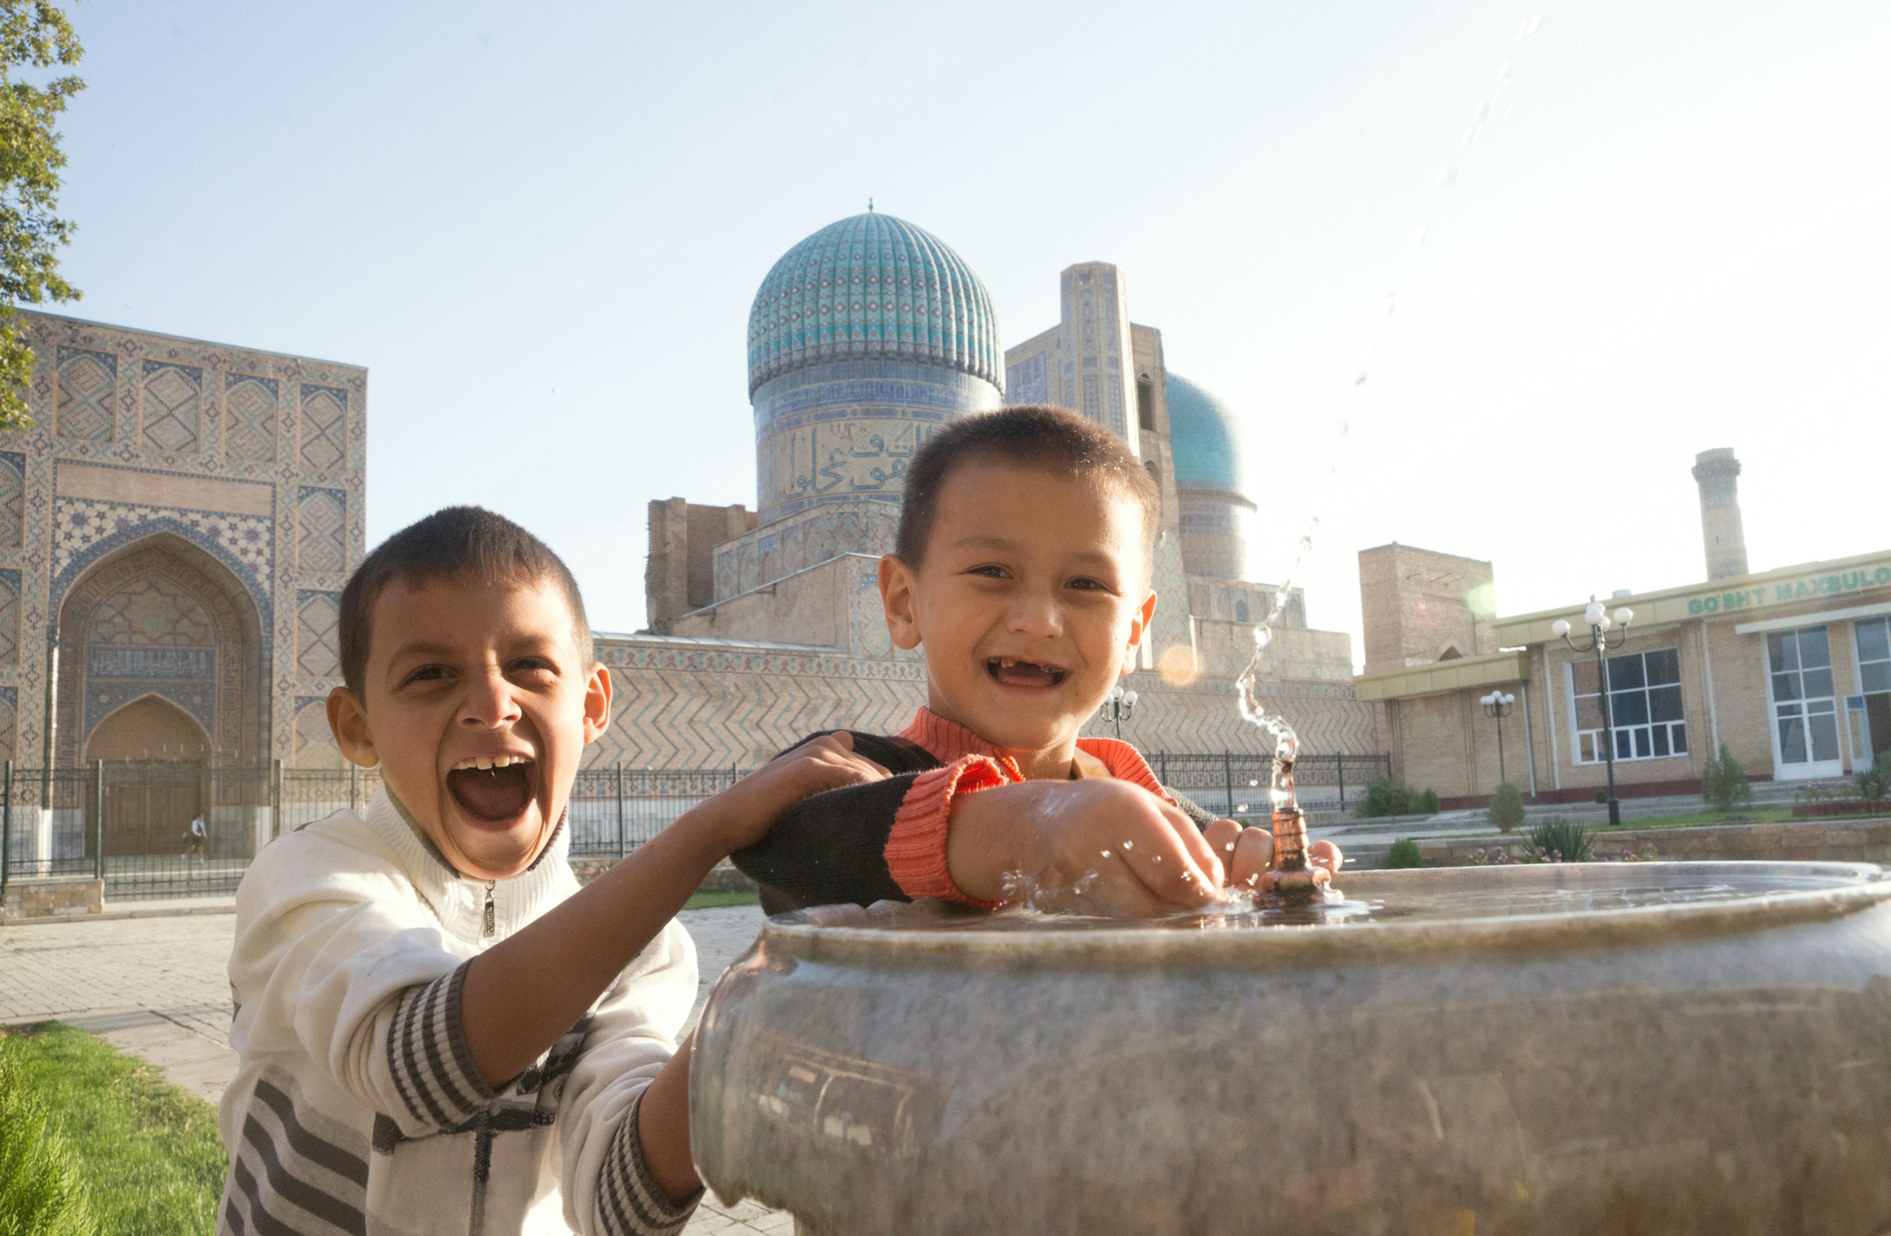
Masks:
[[[564,563],[486,510],[380,544],[340,603],[329,726],[380,765],[236,892],[219,1232],[675,1232],[702,877],[792,801],[883,775],[802,747],[579,890],[565,811],[611,720]]]

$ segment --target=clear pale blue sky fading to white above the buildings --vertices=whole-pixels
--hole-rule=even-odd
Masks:
[[[369,367],[369,542],[482,503],[643,626],[645,503],[755,503],[770,265],[879,210],[1006,342],[1125,270],[1246,418],[1278,580],[1496,563],[1520,612],[1891,546],[1891,6],[74,8],[55,310]],[[1390,312],[1388,312],[1390,310]],[[1363,376],[1363,382],[1362,382]],[[1346,431],[1341,435],[1339,425]]]

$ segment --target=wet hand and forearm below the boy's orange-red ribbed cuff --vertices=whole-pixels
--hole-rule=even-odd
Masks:
[[[1223,869],[1195,822],[1127,781],[1023,781],[963,794],[946,833],[946,867],[980,901],[1008,896],[1021,873],[1046,890],[1074,888],[1101,915],[1199,909],[1222,894]]]

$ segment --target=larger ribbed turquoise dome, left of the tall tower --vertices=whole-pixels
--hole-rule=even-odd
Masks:
[[[749,310],[749,393],[807,365],[872,357],[1004,387],[985,285],[932,232],[868,212],[823,227],[762,280]]]

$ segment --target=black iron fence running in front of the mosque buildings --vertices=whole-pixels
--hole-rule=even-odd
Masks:
[[[1216,815],[1267,811],[1271,762],[1254,754],[1150,754],[1157,779]],[[573,858],[622,858],[749,769],[590,767],[565,824]],[[1301,756],[1301,803],[1345,809],[1390,756]],[[374,769],[212,767],[98,762],[0,767],[0,888],[15,879],[102,879],[106,898],[229,896],[270,839],[380,790]],[[193,822],[202,820],[199,832]]]

